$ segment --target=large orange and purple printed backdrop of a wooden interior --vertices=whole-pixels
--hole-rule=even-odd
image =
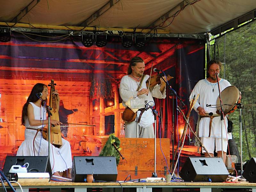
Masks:
[[[60,93],[62,135],[72,148],[72,155],[98,155],[101,138],[115,132],[124,137],[124,108],[119,96],[119,83],[126,75],[129,61],[140,56],[145,61],[145,74],[153,68],[174,78],[169,84],[184,101],[178,105],[187,113],[188,97],[196,82],[204,78],[204,41],[183,38],[148,38],[143,49],[124,48],[121,38],[108,36],[105,47],[84,47],[81,36],[66,39],[24,36],[12,33],[12,39],[0,43],[0,167],[6,155],[16,155],[24,140],[21,110],[36,83],[56,83]],[[47,34],[49,36],[49,34]],[[56,34],[54,36],[57,36]],[[35,40],[31,40],[33,38]],[[48,41],[48,42],[45,42]],[[153,72],[153,74],[155,74]],[[172,138],[172,95],[167,89],[164,100],[156,100],[163,126],[157,124],[157,137]],[[176,98],[174,98],[176,109]],[[196,117],[191,118],[195,127]],[[178,122],[178,123],[177,123]],[[76,124],[76,125],[70,125]],[[175,110],[174,140],[178,140],[184,121]],[[188,132],[189,135],[189,132]],[[186,138],[186,145],[191,138]]]

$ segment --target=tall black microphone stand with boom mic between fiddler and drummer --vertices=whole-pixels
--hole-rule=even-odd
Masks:
[[[162,70],[160,70],[162,71]],[[163,71],[162,71],[163,72]],[[159,71],[157,71],[158,75]],[[164,72],[163,72],[164,73]],[[164,74],[165,76],[165,74]],[[161,78],[164,80],[164,82],[167,84],[166,79],[164,79],[162,76]],[[167,84],[168,85],[168,84]],[[183,103],[183,101],[179,98],[179,96],[177,95],[177,93],[172,89],[171,86],[168,86],[168,88],[171,90],[171,95],[172,95],[172,171],[174,172],[174,95],[176,96],[176,98],[178,98],[181,102],[181,104],[183,106],[185,106],[185,104]],[[178,122],[177,122],[178,123]]]

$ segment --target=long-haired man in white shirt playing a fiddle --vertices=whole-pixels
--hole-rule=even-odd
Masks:
[[[146,81],[149,75],[143,75],[145,70],[145,63],[140,57],[133,57],[127,70],[127,75],[123,76],[120,82],[120,96],[123,100],[123,106],[126,102],[134,97],[144,97],[149,102],[154,102],[153,97],[164,99],[165,82],[160,78],[161,84],[156,84],[149,88],[146,86]],[[140,81],[143,78],[141,85]],[[136,91],[140,86],[139,91]],[[154,138],[154,115],[149,108],[140,116],[141,111],[137,112],[137,118],[134,121],[125,123],[125,137],[126,138]],[[140,116],[140,121],[137,121]]]

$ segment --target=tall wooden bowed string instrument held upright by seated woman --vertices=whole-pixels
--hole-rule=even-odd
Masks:
[[[52,94],[52,92],[55,91],[55,85],[54,80],[51,80],[51,84],[48,86],[51,86],[50,91],[50,97],[49,97],[49,107],[52,108],[50,111],[52,113],[51,119],[58,120],[59,121],[59,108],[57,108],[57,96]],[[60,125],[54,126],[47,129],[46,134],[46,140],[48,141],[48,131],[51,130],[51,143],[53,145],[61,146],[62,140],[61,140],[61,131],[60,131]]]

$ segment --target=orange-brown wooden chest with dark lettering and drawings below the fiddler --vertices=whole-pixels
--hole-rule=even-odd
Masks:
[[[102,147],[107,140],[108,138],[102,138]],[[119,138],[119,140],[120,148],[122,148],[120,152],[125,159],[122,160],[120,157],[117,166],[117,180],[124,180],[129,174],[132,179],[151,177],[154,172],[154,139]],[[156,139],[156,173],[158,177],[164,177],[168,168],[170,169],[170,140],[161,139],[161,148],[160,139]]]

